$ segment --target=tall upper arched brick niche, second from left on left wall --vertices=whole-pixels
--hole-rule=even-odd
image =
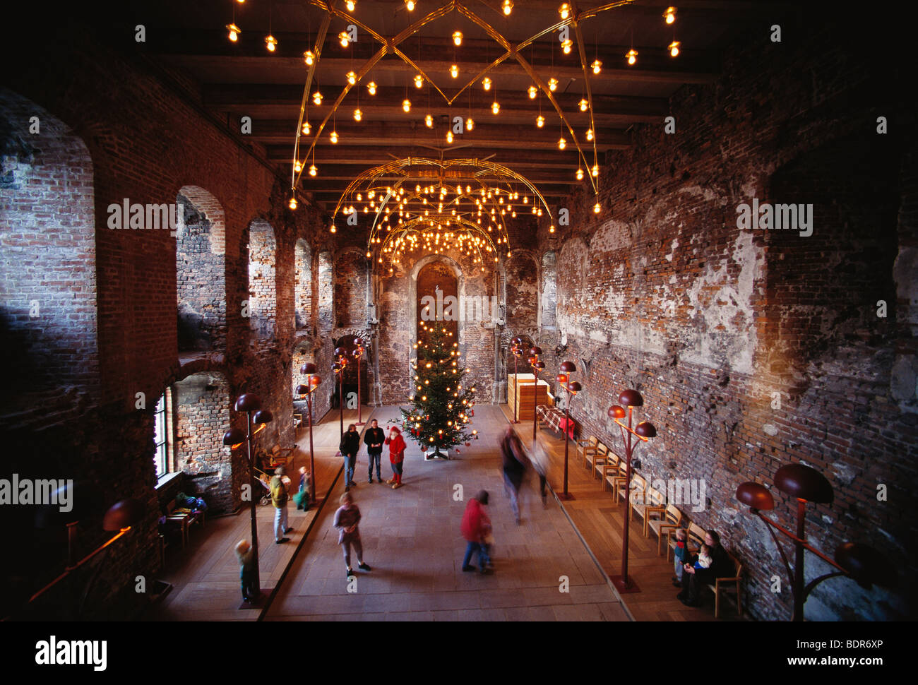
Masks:
[[[217,198],[184,185],[175,198],[178,351],[226,347],[226,221]]]

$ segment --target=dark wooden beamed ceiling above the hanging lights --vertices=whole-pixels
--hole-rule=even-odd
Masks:
[[[510,45],[530,39],[560,20],[557,0],[516,0],[509,17],[500,12],[500,4],[501,0],[464,2]],[[199,85],[204,107],[231,127],[238,127],[242,117],[251,117],[251,140],[260,143],[268,161],[290,177],[308,75],[303,52],[315,50],[327,15],[319,5],[309,0],[246,0],[242,4],[235,0],[130,0],[123,11],[127,15],[124,18],[146,26],[147,51],[153,59],[173,73],[190,76]],[[417,7],[409,13],[403,0],[358,0],[353,17],[390,39],[434,10],[449,5],[448,0],[417,0]],[[574,5],[578,12],[584,12],[607,3]],[[343,1],[336,0],[331,6],[347,14]],[[789,8],[788,4],[778,3],[701,0],[687,0],[676,6],[677,21],[672,26],[667,26],[663,18],[666,3],[645,0],[579,22],[586,62],[599,58],[603,63],[599,75],[588,73],[595,152],[600,165],[613,162],[617,151],[628,148],[628,129],[634,124],[662,126],[667,98],[683,84],[712,83],[720,72],[723,47],[738,31],[753,23],[767,31],[770,23]],[[233,20],[241,28],[236,42],[228,39],[224,28]],[[312,103],[311,97],[307,99],[312,135],[300,139],[299,157],[304,159],[315,140],[319,174],[299,177],[302,193],[333,207],[357,174],[405,157],[487,159],[525,175],[549,201],[567,195],[572,185],[588,185],[588,179],[577,181],[575,176],[582,165],[577,148],[568,144],[565,151],[558,149],[560,137],[569,143],[571,137],[554,107],[544,94],[536,99],[529,97],[527,89],[533,83],[532,77],[513,57],[487,73],[495,84],[491,91],[486,92],[477,78],[456,96],[505,50],[483,28],[454,9],[397,46],[443,94],[455,97],[452,105],[426,83],[417,89],[413,84],[417,71],[397,55],[386,54],[351,88],[318,140],[314,139],[319,123],[330,114],[347,84],[346,74],[359,73],[381,47],[369,33],[358,29],[357,42],[342,48],[337,36],[348,23],[341,16],[331,18],[309,88],[310,95],[318,88],[324,99],[320,107]],[[278,41],[274,53],[265,49],[269,27]],[[464,34],[458,48],[451,39],[457,29]],[[571,38],[575,46],[568,55],[560,49],[557,31],[533,41],[520,55],[544,82],[550,77],[558,80],[554,97],[591,164],[594,147],[585,136],[589,112],[577,107],[586,89],[573,31]],[[682,45],[675,59],[666,51],[673,39]],[[624,55],[632,46],[639,57],[638,63],[630,67]],[[453,63],[460,72],[455,79],[450,75]],[[378,84],[375,95],[369,95],[366,89],[371,80]],[[408,113],[402,109],[406,97],[411,101]],[[498,115],[491,111],[495,99],[500,104]],[[363,113],[359,122],[353,118],[357,107]],[[424,123],[428,113],[434,118],[432,129]],[[535,125],[540,113],[545,118],[541,129]],[[448,122],[456,116],[471,117],[476,125],[456,135],[450,144],[445,136]],[[332,129],[338,133],[337,144],[330,140]]]

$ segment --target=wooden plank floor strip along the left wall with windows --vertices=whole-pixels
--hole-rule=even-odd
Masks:
[[[363,418],[367,424],[372,412],[372,408],[363,408]],[[380,421],[388,418],[388,413],[381,415]],[[357,410],[344,410],[345,428],[349,421],[356,419]],[[288,505],[289,525],[294,529],[293,533],[287,535],[290,538],[289,543],[274,544],[274,507],[268,504],[257,508],[259,567],[263,593],[273,590],[284,575],[319,513],[323,500],[341,474],[343,459],[335,456],[341,438],[339,425],[338,411],[330,411],[313,426],[317,504],[306,512],[297,511],[296,505],[292,502]],[[360,430],[363,428],[360,427]],[[287,473],[294,483],[299,482],[299,467],[308,467],[308,464],[307,428],[299,432],[293,463],[287,468]],[[174,547],[166,551],[166,566],[159,578],[172,583],[173,589],[162,601],[151,606],[143,618],[150,621],[257,620],[259,611],[239,609],[239,563],[233,551],[241,539],[250,540],[251,537],[248,508],[243,508],[233,515],[208,518],[203,526],[192,526],[190,543],[184,550]]]

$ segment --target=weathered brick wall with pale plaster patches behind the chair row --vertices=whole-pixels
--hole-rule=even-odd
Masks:
[[[884,72],[831,28],[807,44],[737,45],[720,82],[671,98],[677,133],[663,122],[637,129],[632,150],[602,169],[599,215],[576,193],[565,203],[571,228],[541,228],[543,249],[558,254],[567,345],[545,361],[553,376],[561,360],[577,364],[585,391],[575,419],[613,448],[621,438],[606,410],[623,389],[644,394],[639,420],[659,434],[639,450],[639,472],[705,482],[700,511],[681,508],[720,530],[745,562],[745,606],[776,619],[789,615],[789,578],[734,495],[745,480],[771,485],[783,464],[813,466],[835,489],[834,504],[809,507],[813,545],[832,556],[842,542],[867,543],[902,578],[915,571],[905,553],[915,523],[902,512],[916,503],[916,402],[914,383],[895,380],[914,377],[914,333],[892,304],[897,289],[900,302],[914,292],[914,276],[893,266],[914,263],[914,173],[899,160],[914,143],[876,133],[879,114],[897,114],[878,95]],[[812,203],[812,236],[738,230],[736,209],[754,197]],[[890,303],[886,319],[879,299]],[[793,502],[772,492],[775,517],[792,526]],[[826,569],[812,556],[807,564],[810,577]],[[784,579],[779,594],[773,575]],[[807,615],[895,617],[903,607],[888,590],[834,578]]]

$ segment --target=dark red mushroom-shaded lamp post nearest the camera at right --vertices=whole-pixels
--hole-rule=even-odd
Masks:
[[[778,552],[784,561],[784,567],[787,569],[789,577],[793,578],[791,590],[794,595],[794,621],[803,620],[803,605],[806,603],[807,597],[817,585],[828,578],[834,578],[835,576],[854,578],[862,588],[869,588],[872,583],[878,583],[879,585],[892,585],[894,583],[895,571],[889,561],[868,545],[857,543],[839,545],[835,549],[835,558],[833,560],[806,542],[803,524],[806,518],[807,502],[830,504],[834,499],[832,485],[823,474],[810,466],[788,464],[778,468],[774,479],[775,485],[778,486],[779,490],[797,499],[797,534],[791,533],[788,529],[762,515],[760,510],[768,511],[775,508],[775,500],[765,486],[754,482],[745,482],[739,488],[736,488],[736,499],[748,505],[750,513],[755,514],[759,519],[767,523],[768,532],[771,533],[775,540],[775,545],[778,546]],[[778,535],[772,529],[784,533],[794,541],[793,571],[790,570],[788,557],[784,553],[780,540],[778,540]],[[804,587],[803,551],[805,549],[809,549],[814,555],[819,556],[824,562],[838,570],[826,573],[819,578],[813,578]]]

